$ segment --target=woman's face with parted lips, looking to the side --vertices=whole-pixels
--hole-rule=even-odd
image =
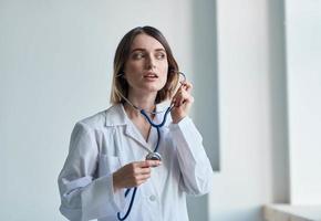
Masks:
[[[164,46],[147,34],[135,36],[124,70],[130,93],[157,94],[166,84],[167,71],[168,62]]]

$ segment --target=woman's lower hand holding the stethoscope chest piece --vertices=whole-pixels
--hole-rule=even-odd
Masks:
[[[157,167],[161,164],[159,160],[145,160],[125,165],[113,173],[114,191],[144,183],[151,177],[152,167]]]

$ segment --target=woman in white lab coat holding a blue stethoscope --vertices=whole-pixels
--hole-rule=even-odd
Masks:
[[[135,28],[122,39],[114,59],[113,106],[75,125],[59,176],[60,211],[69,220],[188,220],[186,194],[207,193],[213,169],[188,117],[191,84],[182,82],[177,90],[177,73],[157,29]],[[172,97],[170,116],[158,129],[137,110],[158,124],[165,115],[155,114],[158,104]],[[145,160],[155,146],[162,160]]]

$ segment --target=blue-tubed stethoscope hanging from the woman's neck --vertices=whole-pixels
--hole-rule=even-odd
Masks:
[[[182,84],[183,82],[186,82],[186,76],[184,73],[182,72],[176,72],[178,75],[182,75],[183,76],[183,81],[179,81],[179,83]],[[161,140],[161,127],[163,127],[167,120],[167,116],[169,114],[169,112],[174,108],[174,104],[170,104],[169,107],[167,107],[166,109],[164,110],[161,110],[161,112],[149,112],[147,113],[146,110],[135,106],[133,103],[131,103],[125,96],[123,96],[121,93],[118,93],[120,96],[127,103],[130,104],[132,107],[134,107],[135,109],[137,109],[145,118],[146,120],[151,124],[152,127],[155,127],[157,129],[157,143],[156,143],[156,147],[154,149],[154,151],[151,151],[147,154],[146,156],[146,160],[161,160],[162,161],[162,155],[157,151],[158,150],[158,146],[159,146],[159,140]],[[159,124],[155,124],[151,117],[148,116],[148,114],[161,114],[161,113],[164,113],[164,117],[163,117],[163,120],[159,123]],[[130,213],[131,213],[131,210],[132,210],[132,207],[134,204],[134,200],[135,200],[135,196],[136,196],[136,191],[137,191],[137,187],[134,187],[134,188],[128,188],[126,189],[125,191],[125,198],[128,196],[128,193],[131,192],[131,190],[133,190],[133,194],[132,194],[132,199],[131,199],[131,202],[130,202],[130,206],[128,206],[128,209],[127,209],[127,212],[125,213],[125,215],[122,218],[121,217],[121,212],[117,212],[117,218],[118,220],[123,221],[125,220]]]

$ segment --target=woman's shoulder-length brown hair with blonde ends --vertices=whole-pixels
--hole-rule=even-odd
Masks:
[[[156,39],[165,49],[168,62],[168,72],[167,72],[167,82],[165,86],[157,93],[155,103],[162,103],[165,99],[173,96],[175,88],[178,83],[178,65],[175,61],[172,50],[169,48],[168,42],[161,31],[153,27],[137,27],[126,33],[121,40],[114,57],[114,73],[113,73],[113,83],[112,83],[112,93],[111,93],[111,103],[118,104],[124,103],[125,98],[128,96],[128,83],[123,77],[124,76],[124,67],[125,63],[130,56],[130,50],[132,43],[138,34],[147,34]]]

